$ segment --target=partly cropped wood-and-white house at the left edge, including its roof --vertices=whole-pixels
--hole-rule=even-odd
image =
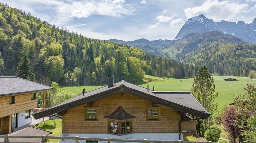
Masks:
[[[0,132],[31,123],[31,109],[37,108],[37,92],[53,88],[17,77],[0,77]]]

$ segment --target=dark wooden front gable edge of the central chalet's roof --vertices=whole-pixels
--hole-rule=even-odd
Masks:
[[[39,118],[45,117],[47,115],[63,112],[65,110],[77,107],[79,105],[90,103],[90,102],[93,102],[95,100],[99,100],[99,99],[108,97],[108,96],[116,94],[116,93],[121,93],[121,92],[132,94],[134,96],[149,100],[151,102],[155,102],[155,103],[158,103],[158,104],[161,104],[161,105],[165,105],[166,107],[173,108],[173,109],[178,110],[180,112],[196,115],[197,117],[200,117],[200,118],[203,118],[203,119],[207,119],[210,116],[210,114],[207,111],[205,112],[205,111],[196,110],[196,109],[187,107],[185,105],[181,105],[179,103],[174,103],[174,102],[165,100],[163,98],[154,96],[151,92],[146,93],[146,92],[143,92],[143,91],[140,91],[140,90],[136,90],[136,89],[127,87],[127,86],[125,86],[125,84],[123,82],[121,82],[120,86],[116,86],[116,87],[110,88],[108,90],[104,90],[104,91],[99,92],[99,93],[95,93],[95,94],[87,96],[87,97],[86,96],[82,97],[79,100],[74,100],[72,102],[67,102],[67,103],[64,103],[62,105],[56,105],[54,107],[48,108],[46,110],[42,110],[41,112],[38,112],[38,113],[35,113],[35,114],[32,114],[32,115],[35,119],[39,119]]]

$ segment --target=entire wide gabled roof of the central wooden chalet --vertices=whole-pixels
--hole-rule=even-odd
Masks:
[[[121,92],[132,94],[151,102],[165,105],[180,112],[196,115],[197,117],[206,119],[210,116],[210,114],[204,109],[204,107],[202,107],[202,105],[190,92],[155,92],[122,80],[122,82],[115,83],[113,87],[108,88],[108,86],[106,86],[84,93],[84,96],[83,94],[78,95],[77,97],[55,105],[54,107],[35,113],[33,114],[33,117],[39,119],[45,117],[46,115],[63,112],[67,109],[71,109],[79,105],[90,103]]]

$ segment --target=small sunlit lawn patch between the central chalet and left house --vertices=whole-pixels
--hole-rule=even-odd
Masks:
[[[41,129],[51,131],[52,134],[49,134],[49,136],[60,136],[62,133],[62,119],[46,120]],[[57,143],[59,139],[49,139],[47,142]]]

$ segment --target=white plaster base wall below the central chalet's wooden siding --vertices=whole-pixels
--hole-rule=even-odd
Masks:
[[[63,136],[65,134],[61,134]],[[179,140],[179,133],[132,133],[125,135],[114,134],[66,134],[68,137],[88,137],[88,138],[115,138],[115,139],[147,139],[147,140]],[[180,135],[180,140],[183,141],[183,135]],[[75,140],[61,140],[60,143],[75,143]],[[79,140],[79,143],[86,143],[86,140]],[[105,141],[98,141],[98,143],[106,143]],[[115,142],[116,143],[116,142]]]

